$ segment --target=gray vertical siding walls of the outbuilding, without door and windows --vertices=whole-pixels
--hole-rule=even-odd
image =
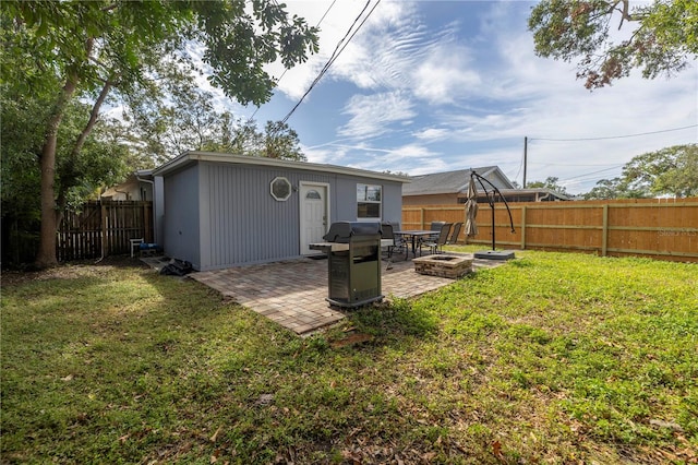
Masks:
[[[284,202],[269,193],[269,183],[277,176],[286,177],[293,187]],[[384,219],[400,220],[399,182],[200,162],[166,178],[167,253],[192,262],[200,271],[300,257],[301,181],[329,184],[330,223],[357,219],[357,182],[382,184]],[[179,235],[182,228],[188,233]]]

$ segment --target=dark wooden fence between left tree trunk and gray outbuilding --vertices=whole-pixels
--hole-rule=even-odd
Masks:
[[[130,253],[130,239],[153,241],[153,202],[97,201],[64,212],[59,225],[59,261]]]

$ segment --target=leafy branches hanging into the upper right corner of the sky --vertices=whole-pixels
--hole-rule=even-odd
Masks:
[[[630,31],[617,43],[612,26]],[[640,68],[671,76],[698,57],[698,1],[542,0],[531,11],[535,52],[577,61],[587,88],[603,87]]]

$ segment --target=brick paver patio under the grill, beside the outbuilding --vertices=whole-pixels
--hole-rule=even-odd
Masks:
[[[503,263],[474,260],[473,269]],[[390,270],[386,270],[386,265],[383,262],[382,293],[388,299],[414,297],[454,283],[454,279],[418,274],[411,261],[399,258]],[[192,273],[189,277],[300,335],[308,335],[345,318],[325,300],[327,260],[299,259]]]

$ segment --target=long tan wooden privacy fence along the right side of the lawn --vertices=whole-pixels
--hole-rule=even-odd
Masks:
[[[468,243],[492,243],[492,208],[479,204],[478,235]],[[504,203],[494,207],[498,248],[581,251],[698,262],[698,198]],[[402,206],[402,228],[433,220],[464,222],[465,205]],[[461,231],[459,241],[466,240]]]

